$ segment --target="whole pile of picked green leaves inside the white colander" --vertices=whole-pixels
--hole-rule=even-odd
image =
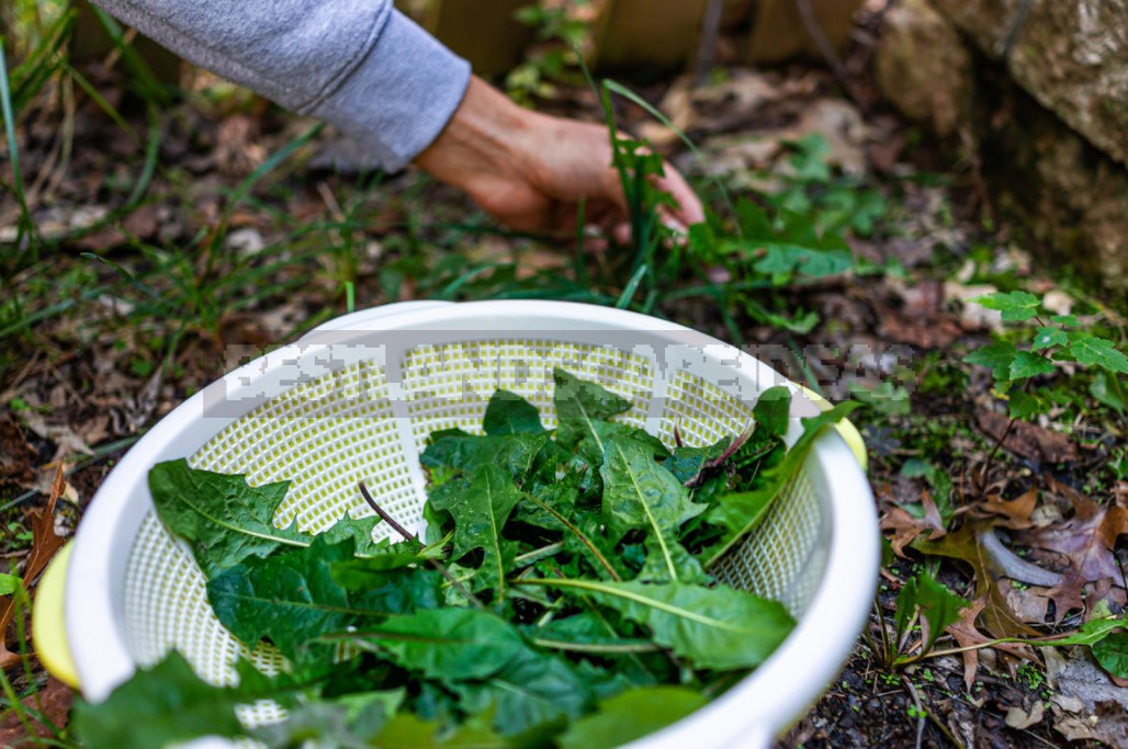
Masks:
[[[185,460],[149,475],[157,512],[208,579],[215,616],[248,649],[233,686],[173,652],[103,704],[79,702],[90,747],[151,749],[203,735],[271,748],[615,747],[685,717],[761,663],[790,633],[778,602],[715,584],[843,404],[804,420],[788,450],[790,393],[707,447],[663,446],[617,421],[631,404],[555,372],[557,425],[499,390],[483,434],[434,432],[425,538],[376,516],[318,536],[272,522],[288,484]],[[372,493],[369,488],[373,490]],[[374,494],[374,499],[373,499]],[[373,528],[396,532],[373,543]],[[285,720],[247,728],[236,707],[274,700]]]

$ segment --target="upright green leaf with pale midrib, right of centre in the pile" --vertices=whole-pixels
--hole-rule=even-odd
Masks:
[[[677,543],[681,523],[705,511],[694,504],[689,490],[654,461],[654,455],[633,440],[613,438],[605,446],[603,521],[614,539],[633,528],[646,528],[662,548],[670,579],[677,567],[668,547]]]

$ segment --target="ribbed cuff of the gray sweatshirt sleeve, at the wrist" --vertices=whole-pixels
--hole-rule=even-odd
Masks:
[[[468,62],[393,10],[368,58],[310,114],[397,171],[439,136],[469,80]]]

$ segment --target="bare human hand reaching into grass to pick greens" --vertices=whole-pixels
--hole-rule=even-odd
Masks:
[[[476,76],[415,164],[512,229],[570,236],[583,201],[588,224],[619,241],[629,238],[607,129],[522,109]],[[677,203],[664,217],[668,223],[684,230],[705,220],[700,201],[673,167],[667,165],[655,184]]]

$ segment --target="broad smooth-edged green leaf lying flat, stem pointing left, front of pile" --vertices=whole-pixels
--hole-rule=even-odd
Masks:
[[[467,608],[418,610],[333,638],[385,653],[406,669],[442,681],[490,678],[526,649],[512,625]]]

